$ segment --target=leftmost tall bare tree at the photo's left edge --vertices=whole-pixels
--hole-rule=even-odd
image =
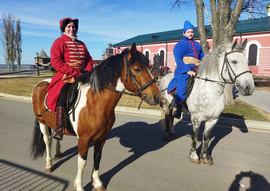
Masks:
[[[15,17],[11,14],[4,13],[2,15],[3,28],[1,30],[4,39],[1,39],[5,52],[3,56],[10,71],[10,65],[12,64],[12,70],[14,70],[14,62],[16,60],[16,45],[15,45],[15,32],[14,21]]]

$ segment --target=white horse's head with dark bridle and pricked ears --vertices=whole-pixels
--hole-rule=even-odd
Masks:
[[[255,85],[248,69],[248,59],[244,56],[242,51],[247,45],[247,39],[237,45],[237,39],[226,50],[224,60],[221,62],[222,78],[232,84],[238,89],[242,95],[252,95]]]

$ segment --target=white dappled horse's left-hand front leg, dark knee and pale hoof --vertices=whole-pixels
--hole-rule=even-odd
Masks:
[[[189,160],[193,163],[196,164],[200,164],[201,161],[197,155],[197,140],[199,138],[199,129],[200,129],[200,125],[201,125],[201,120],[198,119],[194,119],[191,116],[191,125],[192,125],[192,132],[191,132],[191,139],[192,139],[192,143],[191,143],[191,147],[190,147],[190,153],[189,153]]]

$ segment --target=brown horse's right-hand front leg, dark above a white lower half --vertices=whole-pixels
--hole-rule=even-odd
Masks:
[[[103,186],[103,183],[99,179],[99,163],[101,159],[101,154],[102,154],[102,148],[105,144],[105,141],[107,139],[103,138],[101,141],[95,141],[95,146],[94,146],[94,166],[92,170],[92,185],[94,186],[96,191],[104,191],[106,188]]]

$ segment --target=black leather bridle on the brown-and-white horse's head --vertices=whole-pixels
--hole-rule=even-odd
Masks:
[[[127,55],[125,56],[125,61],[126,61],[126,68],[127,68],[127,70],[126,70],[126,79],[125,79],[125,82],[126,82],[126,84],[127,84],[128,76],[130,76],[130,81],[132,81],[133,86],[135,87],[135,89],[136,89],[136,91],[137,91],[137,94],[135,94],[135,93],[123,92],[123,91],[118,91],[118,90],[111,89],[111,88],[107,88],[107,87],[104,87],[104,88],[105,88],[105,89],[108,89],[108,90],[110,90],[110,91],[119,93],[119,94],[123,93],[123,94],[126,94],[126,95],[138,96],[138,97],[141,99],[141,103],[142,103],[142,102],[143,102],[143,99],[146,98],[146,95],[144,95],[143,90],[146,89],[148,86],[150,86],[152,83],[156,83],[157,81],[156,81],[156,79],[152,79],[152,80],[150,80],[149,82],[147,82],[146,84],[141,85],[140,82],[137,81],[136,76],[131,72],[131,69],[130,69],[130,63],[131,63],[131,62],[128,61]],[[128,75],[128,74],[129,74],[129,75]],[[139,84],[140,89],[137,87],[135,81]],[[143,94],[143,96],[142,96],[142,94]],[[138,109],[140,109],[141,103],[140,103]]]

